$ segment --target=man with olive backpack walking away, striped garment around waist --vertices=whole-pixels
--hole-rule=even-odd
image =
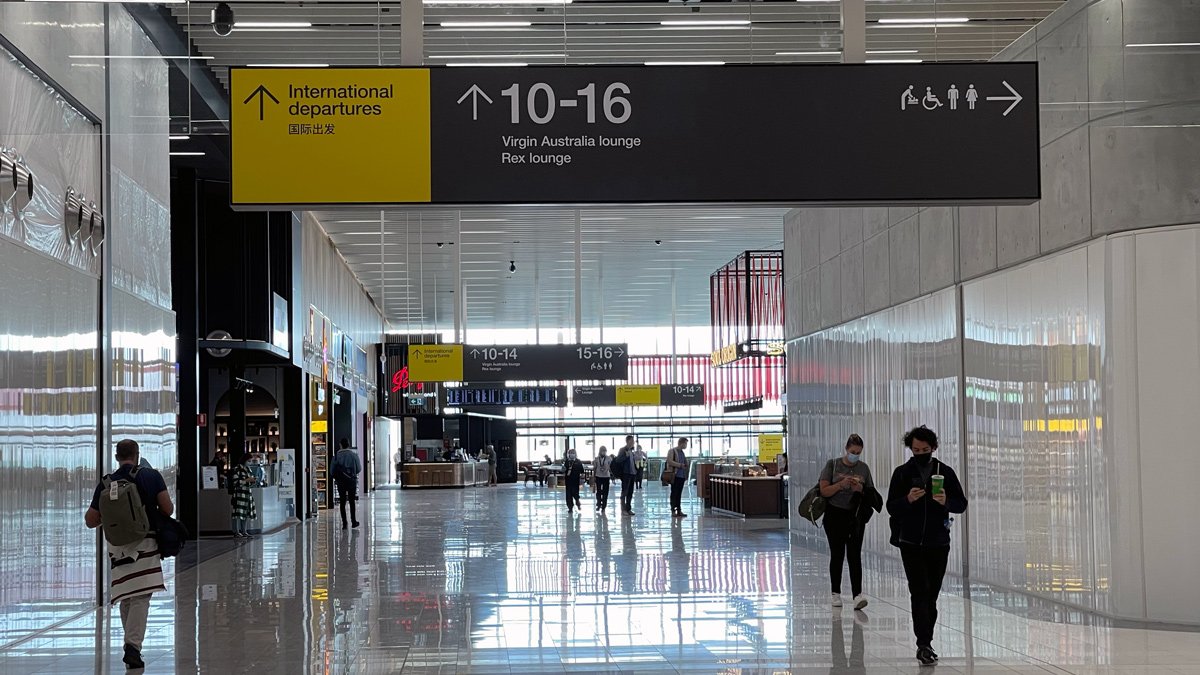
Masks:
[[[101,479],[84,514],[88,527],[102,527],[108,542],[112,566],[108,602],[121,607],[125,629],[121,661],[131,669],[145,668],[142,640],[150,616],[150,596],[166,590],[155,528],[160,515],[175,512],[162,473],[139,466],[140,459],[137,441],[126,438],[116,443],[120,467]]]

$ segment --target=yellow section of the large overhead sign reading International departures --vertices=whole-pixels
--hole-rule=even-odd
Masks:
[[[427,68],[232,68],[234,205],[430,201]]]

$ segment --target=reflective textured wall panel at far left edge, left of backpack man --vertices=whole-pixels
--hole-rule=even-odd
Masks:
[[[0,646],[96,602],[96,317],[88,274],[0,239]]]

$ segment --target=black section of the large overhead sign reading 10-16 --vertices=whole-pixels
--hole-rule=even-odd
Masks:
[[[1033,62],[431,76],[436,203],[1040,197]]]

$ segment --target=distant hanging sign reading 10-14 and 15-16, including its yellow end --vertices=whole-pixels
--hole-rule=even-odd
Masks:
[[[409,345],[414,382],[625,380],[626,345]]]

